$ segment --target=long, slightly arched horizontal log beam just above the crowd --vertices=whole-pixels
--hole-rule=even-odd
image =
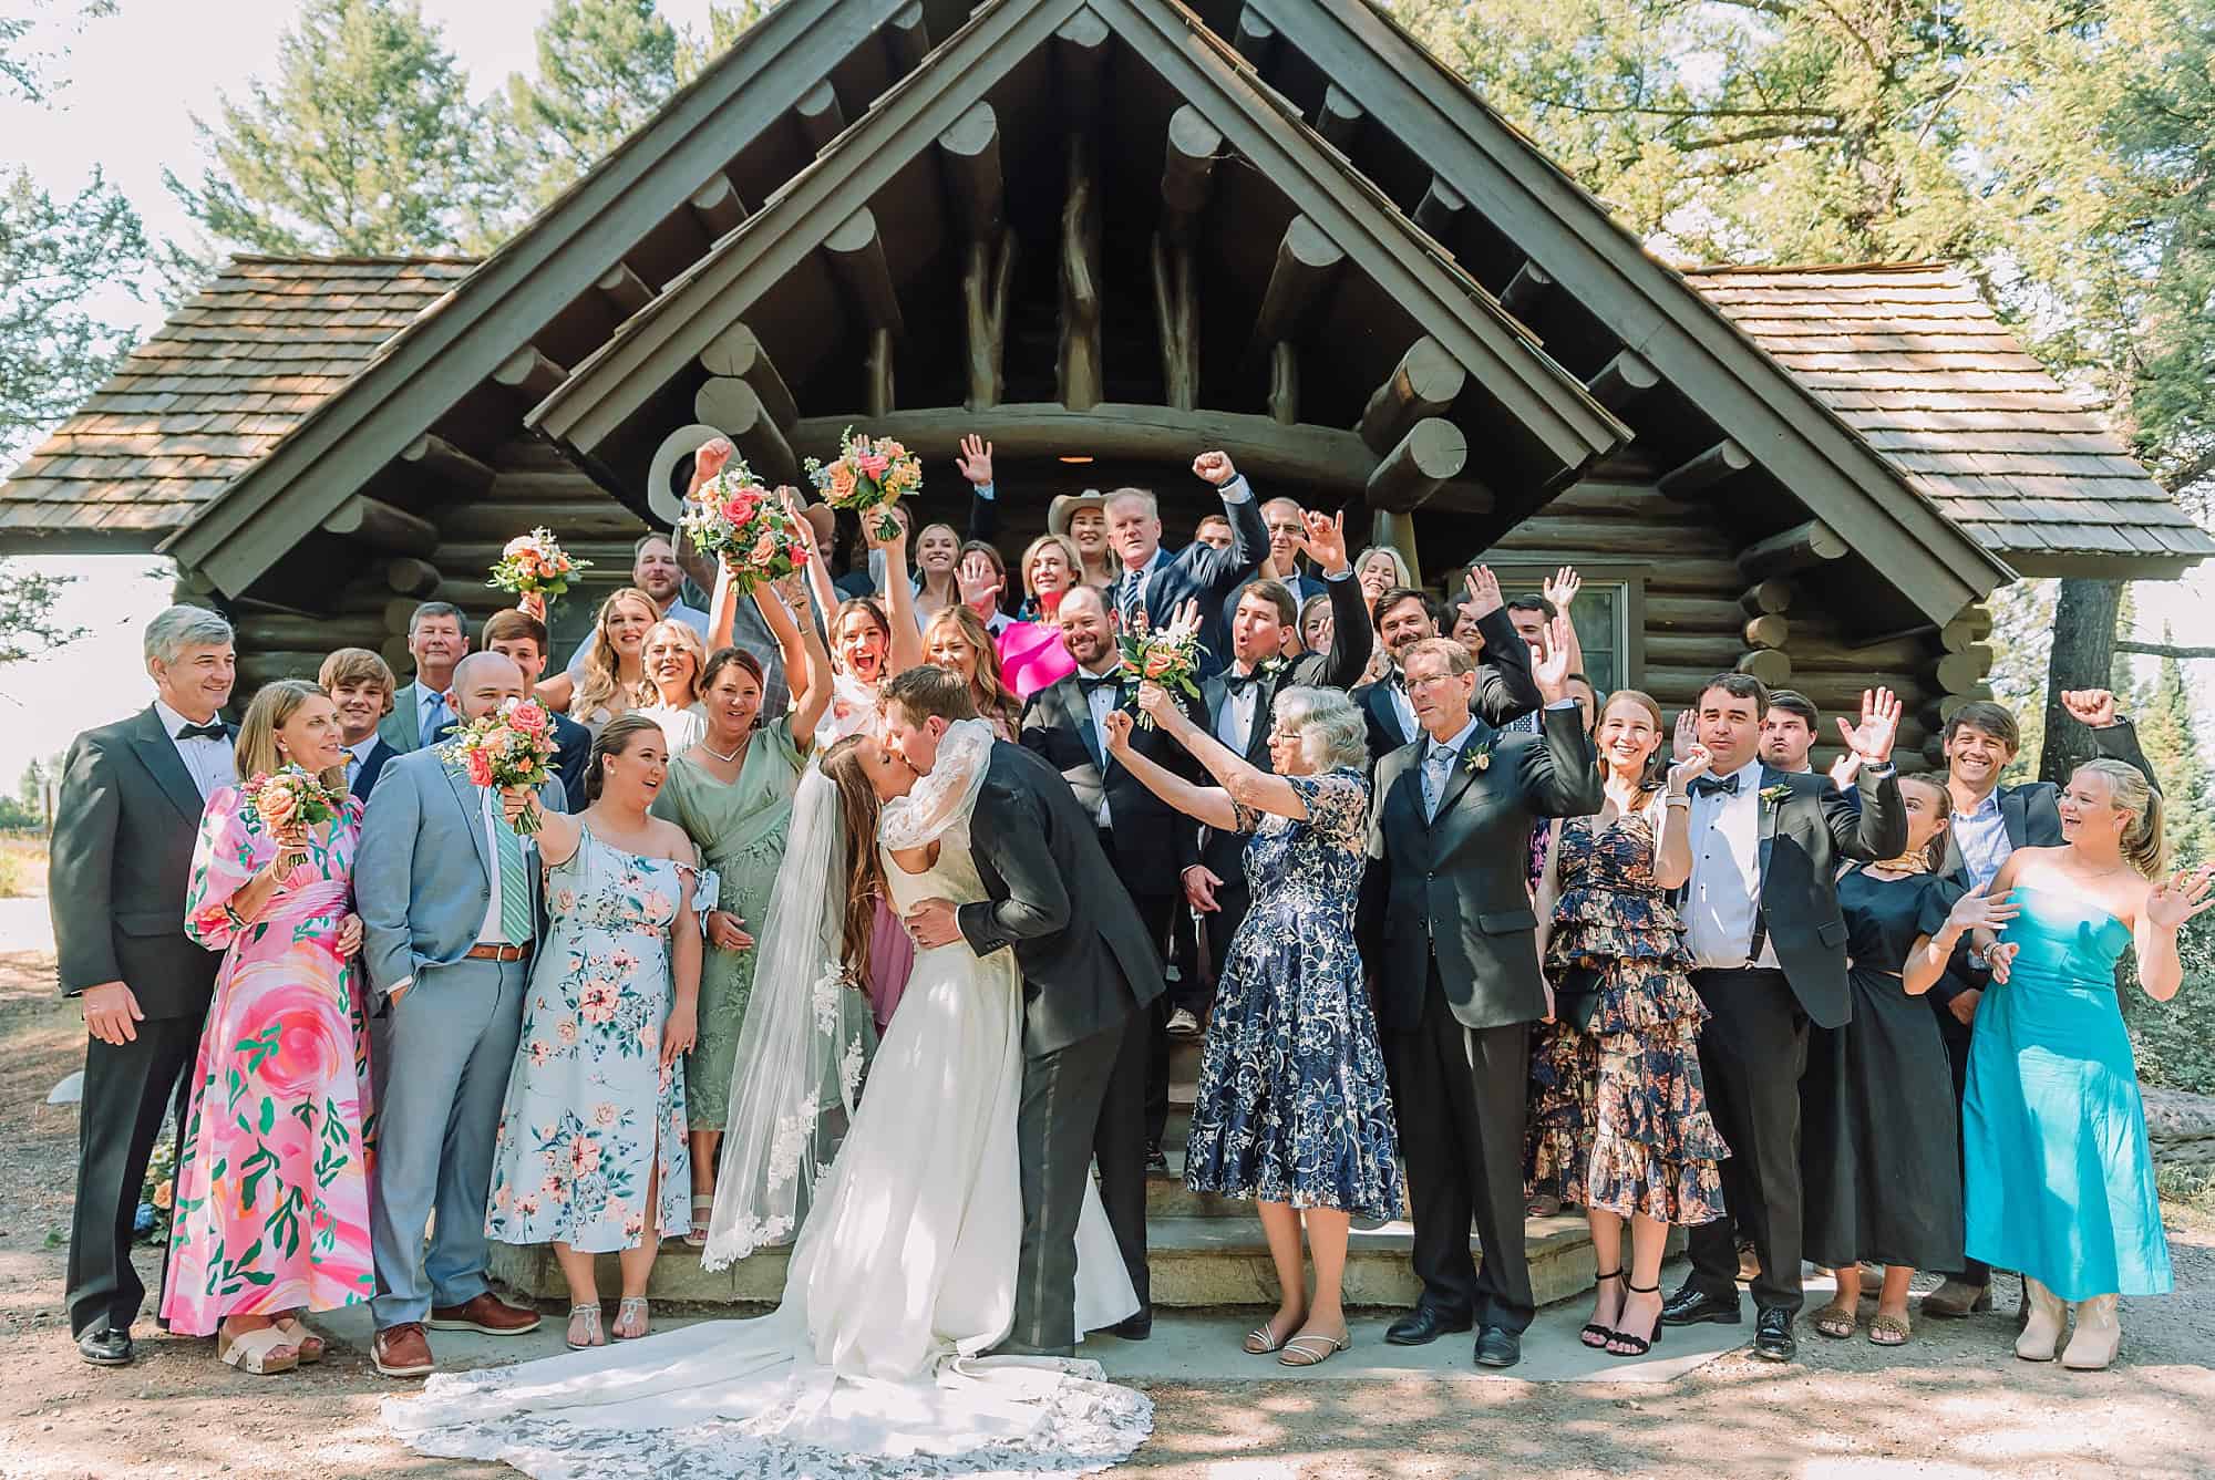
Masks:
[[[839,432],[851,417],[808,417],[793,430],[793,450],[802,456],[835,456]],[[1316,490],[1342,501],[1349,487],[1369,483],[1378,456],[1345,428],[1313,423],[1278,425],[1269,417],[1223,410],[1181,412],[1167,405],[1103,401],[1072,412],[1054,401],[1019,401],[975,414],[948,417],[944,410],[893,412],[870,423],[877,436],[897,436],[910,452],[933,465],[957,454],[964,432],[995,445],[995,456],[1057,459],[1096,456],[1099,461],[1187,465],[1207,448],[1232,454],[1238,470],[1256,483],[1285,483]],[[1480,483],[1455,479],[1429,503],[1433,510],[1482,514],[1493,507],[1493,494]]]

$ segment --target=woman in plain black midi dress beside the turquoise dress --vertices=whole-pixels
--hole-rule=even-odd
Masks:
[[[1854,1017],[1814,1028],[1801,1079],[1805,1247],[1838,1276],[1814,1314],[1823,1336],[1854,1334],[1861,1261],[1885,1265],[1869,1340],[1907,1340],[1907,1281],[1960,1267],[1958,1110],[1938,1019],[1920,997],[1945,973],[1965,931],[2013,906],[1967,895],[1931,871],[1951,802],[1943,780],[1900,778],[1907,849],[1854,864],[1838,880]],[[1956,908],[1958,906],[1958,908]]]

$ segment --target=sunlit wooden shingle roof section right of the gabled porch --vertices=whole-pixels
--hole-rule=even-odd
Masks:
[[[1985,549],[2025,574],[2215,554],[2098,403],[2022,352],[1951,264],[1686,279]]]

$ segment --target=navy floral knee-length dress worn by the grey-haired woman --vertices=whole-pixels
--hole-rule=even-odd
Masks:
[[[1398,1132],[1353,946],[1369,782],[1351,769],[1285,780],[1305,822],[1240,809],[1254,904],[1207,1019],[1185,1183],[1398,1219]]]

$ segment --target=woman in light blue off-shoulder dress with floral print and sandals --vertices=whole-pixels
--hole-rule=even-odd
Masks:
[[[676,822],[647,815],[669,742],[645,716],[594,740],[591,802],[540,820],[552,928],[523,999],[501,1108],[485,1234],[552,1243],[569,1285],[569,1345],[598,1347],[596,1254],[620,1254],[616,1340],[647,1334],[647,1278],[664,1236],[691,1227],[684,1052],[698,1037],[700,924],[715,897]],[[405,1070],[401,1070],[405,1072]]]

